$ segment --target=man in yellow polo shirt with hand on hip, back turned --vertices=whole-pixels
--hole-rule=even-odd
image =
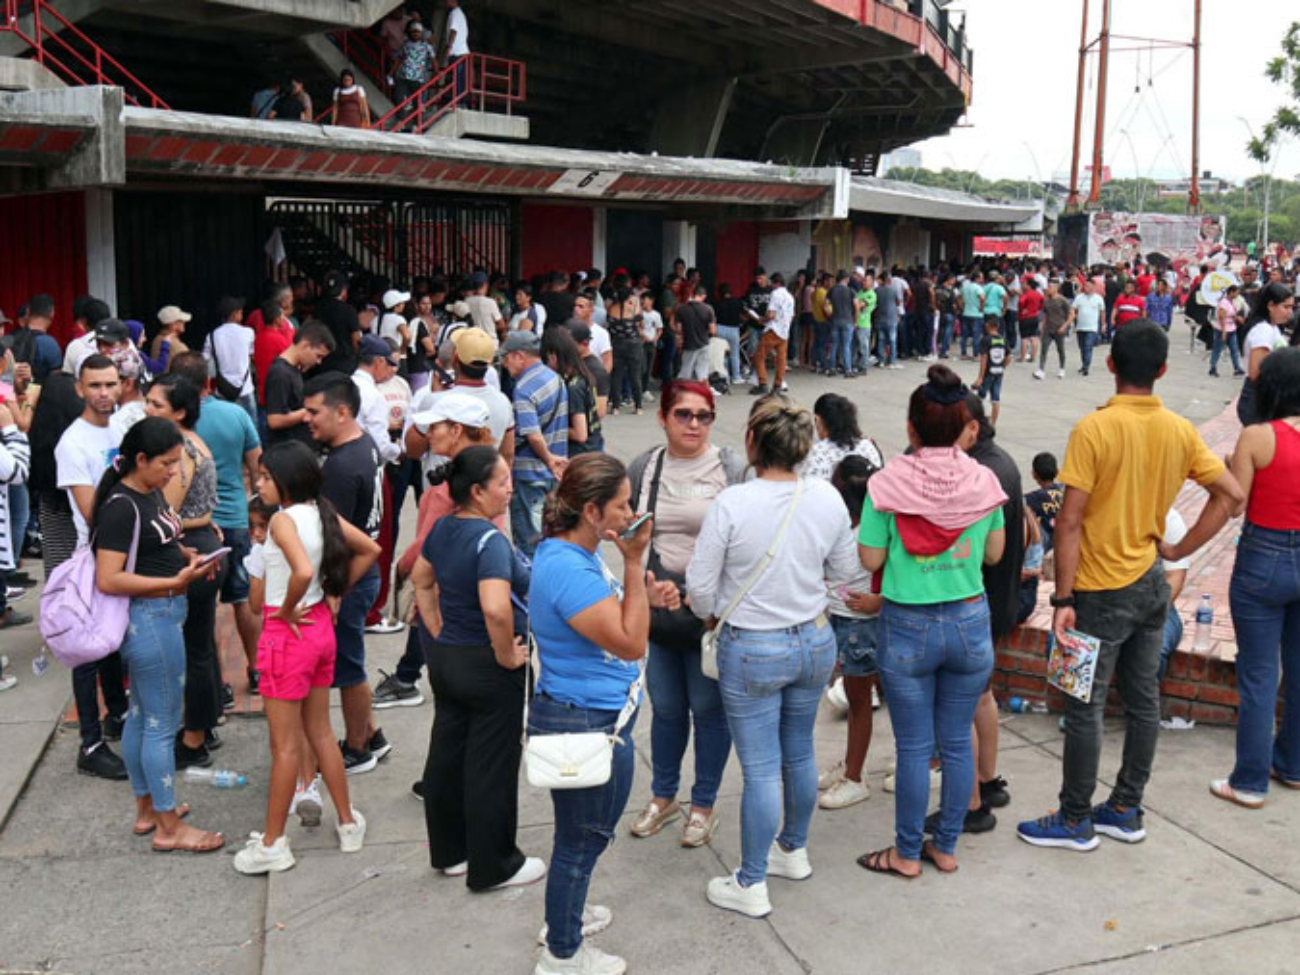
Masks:
[[[1139,318],[1115,333],[1106,365],[1115,395],[1070,434],[1057,515],[1053,629],[1097,637],[1101,653],[1092,699],[1065,698],[1061,809],[1020,823],[1035,846],[1096,849],[1102,833],[1123,842],[1147,836],[1141,798],[1160,732],[1160,649],[1170,590],[1161,564],[1165,514],[1187,478],[1209,502],[1179,558],[1209,541],[1245,500],[1240,485],[1196,428],[1153,394],[1165,374],[1169,337]],[[1124,750],[1110,798],[1092,805],[1101,757],[1102,716],[1110,679],[1124,703]]]

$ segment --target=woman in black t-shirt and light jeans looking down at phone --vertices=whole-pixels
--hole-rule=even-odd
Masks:
[[[182,823],[190,807],[177,805],[174,789],[185,702],[185,592],[217,568],[182,547],[181,517],[162,497],[181,467],[182,442],[170,420],[147,417],[131,426],[95,491],[91,529],[100,590],[131,601],[121,649],[131,673],[122,759],[135,793],[135,835],[153,833],[160,853],[211,853],[225,838]]]

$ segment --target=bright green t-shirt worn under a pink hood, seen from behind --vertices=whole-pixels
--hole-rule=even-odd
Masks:
[[[941,555],[909,555],[892,514],[875,510],[870,495],[862,507],[858,541],[871,549],[887,549],[880,594],[896,603],[930,606],[970,599],[984,592],[984,542],[988,533],[1004,528],[1002,508],[985,515],[962,532]]]

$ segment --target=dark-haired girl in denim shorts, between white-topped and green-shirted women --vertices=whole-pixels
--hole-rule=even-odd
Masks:
[[[849,507],[853,537],[857,538],[862,506],[867,499],[867,480],[876,467],[866,458],[850,454],[835,468],[831,484]],[[871,797],[862,781],[862,767],[871,748],[871,698],[876,672],[876,615],[880,612],[879,573],[859,569],[853,578],[829,581],[831,627],[838,649],[840,676],[849,698],[849,741],[844,760],[818,776],[822,809],[845,809]]]

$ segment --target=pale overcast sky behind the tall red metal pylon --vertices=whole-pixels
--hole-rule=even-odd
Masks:
[[[1114,0],[1112,35],[1191,40],[1193,0]],[[1260,173],[1247,153],[1244,118],[1258,133],[1284,90],[1264,77],[1282,36],[1300,20],[1291,0],[1205,0],[1201,14],[1200,168],[1234,182]],[[957,0],[975,51],[974,90],[965,122],[915,143],[930,169],[976,169],[998,179],[1049,179],[1070,172],[1083,0]],[[1242,17],[1243,10],[1249,17]],[[1089,38],[1101,3],[1089,3]],[[1112,39],[1105,165],[1117,178],[1186,177],[1191,166],[1192,52],[1190,48],[1117,53],[1134,42]],[[1084,88],[1083,166],[1092,159],[1096,61]],[[1148,84],[1150,78],[1152,83]],[[1135,87],[1141,92],[1135,94]],[[1240,117],[1240,118],[1239,118]],[[1300,178],[1300,143],[1274,153],[1277,177]],[[1269,172],[1269,170],[1266,170]]]

